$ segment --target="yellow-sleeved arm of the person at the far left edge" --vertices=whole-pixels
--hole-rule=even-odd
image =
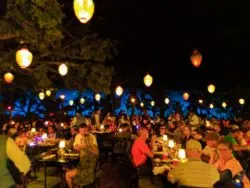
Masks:
[[[6,144],[7,156],[12,160],[21,173],[26,174],[30,170],[30,160],[27,155],[17,146],[12,138],[8,138]]]

